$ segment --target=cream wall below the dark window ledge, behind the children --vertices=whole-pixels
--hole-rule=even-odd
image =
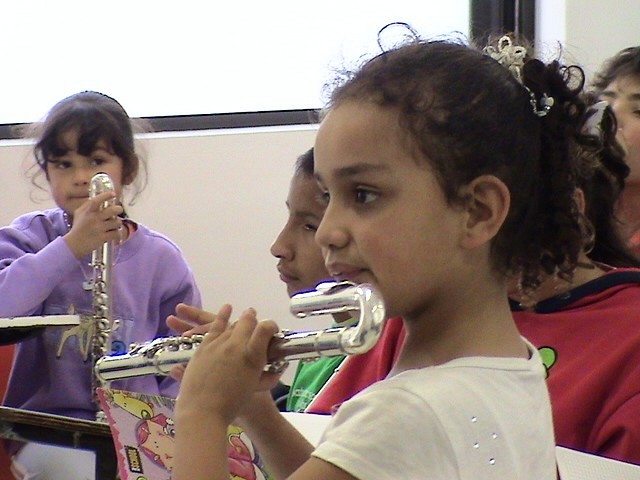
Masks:
[[[209,309],[252,306],[283,328],[326,325],[289,314],[269,247],[286,220],[296,157],[313,145],[315,126],[151,134],[142,139],[149,184],[129,215],[183,250]],[[0,225],[53,204],[25,177],[30,145],[0,141]],[[31,195],[37,194],[37,195]],[[34,202],[31,196],[44,201]],[[293,374],[292,369],[285,379]]]

